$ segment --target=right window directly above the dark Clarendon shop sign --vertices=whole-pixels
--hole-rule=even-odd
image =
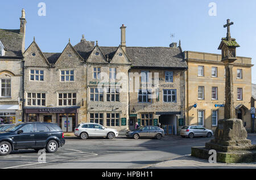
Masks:
[[[76,105],[76,93],[59,93],[59,106],[74,106]]]

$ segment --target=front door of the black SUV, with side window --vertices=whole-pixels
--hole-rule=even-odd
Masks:
[[[29,123],[19,128],[23,130],[20,134],[14,136],[15,148],[32,148],[35,147],[35,133],[34,133],[34,124]],[[17,131],[17,132],[18,132]]]

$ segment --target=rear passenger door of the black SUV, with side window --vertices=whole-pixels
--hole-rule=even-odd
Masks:
[[[49,128],[43,123],[36,123],[35,128],[35,146],[46,147],[46,140],[51,136]]]

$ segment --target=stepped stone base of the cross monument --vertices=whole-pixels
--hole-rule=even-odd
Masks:
[[[256,162],[256,145],[251,145],[241,119],[221,119],[214,139],[205,147],[192,147],[191,156],[208,159],[210,149],[217,152],[217,162]]]

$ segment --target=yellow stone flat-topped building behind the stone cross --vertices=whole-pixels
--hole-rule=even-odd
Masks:
[[[221,54],[186,51],[186,125],[215,130],[224,119],[225,68]],[[234,107],[247,131],[251,131],[251,58],[237,57],[233,68]]]

